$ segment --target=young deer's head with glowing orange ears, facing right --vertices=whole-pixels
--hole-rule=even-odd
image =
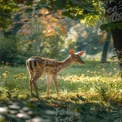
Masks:
[[[79,52],[74,53],[74,50],[72,49],[69,50],[69,54],[71,55],[72,61],[78,64],[84,64],[84,61],[80,57],[84,54],[84,52],[85,51],[79,51]]]

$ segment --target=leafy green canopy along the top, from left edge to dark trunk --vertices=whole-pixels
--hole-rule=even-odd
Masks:
[[[98,0],[2,0],[0,3],[0,27],[7,28],[12,23],[13,12],[20,12],[22,8],[27,6],[28,9],[26,11],[33,11],[34,6],[36,10],[47,8],[53,14],[57,13],[57,10],[60,10],[63,16],[76,20],[86,19],[89,24],[95,24],[100,14],[99,10],[101,9],[98,3]]]

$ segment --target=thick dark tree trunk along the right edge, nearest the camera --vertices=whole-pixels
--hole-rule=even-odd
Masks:
[[[119,59],[122,77],[122,0],[102,0],[105,3],[106,20],[110,27],[114,49]]]

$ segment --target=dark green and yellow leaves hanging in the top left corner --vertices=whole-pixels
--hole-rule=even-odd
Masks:
[[[13,24],[13,13],[18,12],[21,5],[32,5],[33,0],[0,0],[0,29],[8,29]]]

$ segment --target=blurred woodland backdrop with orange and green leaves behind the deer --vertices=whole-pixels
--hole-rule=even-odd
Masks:
[[[63,5],[58,2],[57,10],[53,10],[52,4],[46,1],[1,2],[2,63],[25,64],[25,60],[32,55],[62,60],[69,49],[85,50],[88,58],[96,58],[99,54],[101,62],[106,62],[107,51],[115,55],[110,32],[99,28],[104,23],[100,16],[103,8],[102,5],[101,8],[97,6],[98,1],[88,1],[82,9],[76,5],[74,11],[71,6],[69,10],[59,9]],[[86,3],[83,1],[82,4]]]

